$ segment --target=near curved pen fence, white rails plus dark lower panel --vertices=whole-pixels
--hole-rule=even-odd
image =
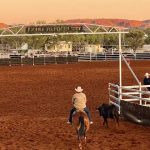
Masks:
[[[109,103],[115,105],[119,113],[136,123],[150,125],[150,85],[122,86],[109,83]],[[120,88],[122,93],[120,93]],[[120,99],[120,95],[122,99]]]

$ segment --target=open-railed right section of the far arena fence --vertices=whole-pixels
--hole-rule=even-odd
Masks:
[[[126,59],[130,60],[150,60],[150,53],[122,53]],[[119,60],[119,53],[80,53],[79,61],[101,61]]]

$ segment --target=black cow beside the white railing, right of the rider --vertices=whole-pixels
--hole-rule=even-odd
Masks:
[[[115,105],[103,103],[96,109],[99,111],[100,116],[103,117],[104,119],[103,125],[106,124],[107,128],[108,128],[108,121],[107,121],[108,118],[114,119],[119,126],[119,113]]]

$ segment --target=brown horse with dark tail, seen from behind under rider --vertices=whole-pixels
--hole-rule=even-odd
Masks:
[[[79,148],[82,149],[83,142],[86,144],[86,132],[90,127],[89,118],[84,111],[78,110],[73,115],[72,122],[78,135]]]

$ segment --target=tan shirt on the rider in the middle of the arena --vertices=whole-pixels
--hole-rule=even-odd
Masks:
[[[73,106],[78,109],[78,110],[82,110],[86,107],[86,95],[84,93],[75,93],[72,97],[72,103]]]

